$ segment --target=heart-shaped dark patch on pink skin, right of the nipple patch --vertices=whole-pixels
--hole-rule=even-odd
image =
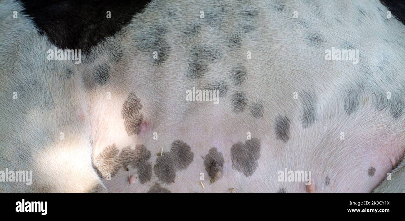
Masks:
[[[259,157],[260,141],[257,138],[232,145],[232,168],[243,173],[246,177],[252,176],[256,170]]]

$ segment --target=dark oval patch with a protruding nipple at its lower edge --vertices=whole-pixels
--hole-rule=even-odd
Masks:
[[[218,152],[216,147],[209,149],[208,154],[204,158],[205,170],[207,170],[209,177],[220,179],[222,177],[224,162],[224,156],[221,152]]]

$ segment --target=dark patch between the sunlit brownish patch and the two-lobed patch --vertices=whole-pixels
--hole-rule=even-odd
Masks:
[[[132,165],[137,169],[137,174],[141,184],[146,183],[152,176],[152,164],[149,162],[151,152],[145,145],[136,145],[134,150],[131,147],[124,147],[119,154],[121,167],[126,168]]]

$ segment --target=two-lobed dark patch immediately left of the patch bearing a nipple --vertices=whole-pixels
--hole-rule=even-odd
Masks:
[[[191,147],[183,141],[176,140],[171,144],[169,152],[163,152],[162,156],[156,159],[155,174],[160,181],[170,184],[176,177],[176,171],[186,169],[193,159]]]

